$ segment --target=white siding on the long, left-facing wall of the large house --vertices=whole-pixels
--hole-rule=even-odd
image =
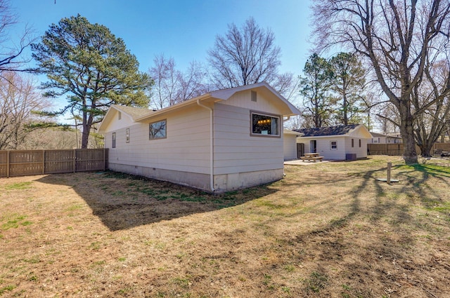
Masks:
[[[122,114],[123,115],[123,114]],[[167,120],[167,138],[148,140],[148,123],[130,126],[130,140],[125,142],[125,128],[115,130],[116,148],[110,150],[110,162],[181,172],[210,172],[210,114],[200,107],[184,109],[154,121]],[[107,135],[110,135],[108,133]],[[108,137],[105,144],[110,147]]]

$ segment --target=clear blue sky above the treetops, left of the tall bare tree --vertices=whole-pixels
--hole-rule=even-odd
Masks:
[[[41,36],[51,23],[77,15],[91,23],[105,25],[124,39],[136,55],[141,71],[153,65],[163,53],[173,57],[184,71],[189,62],[206,62],[207,50],[227,25],[240,25],[252,16],[263,28],[270,28],[281,48],[281,72],[301,74],[309,56],[310,0],[13,0],[20,24]]]

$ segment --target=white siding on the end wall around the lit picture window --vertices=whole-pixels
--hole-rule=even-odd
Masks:
[[[250,136],[250,109],[214,104],[214,175],[279,168],[283,137]]]

